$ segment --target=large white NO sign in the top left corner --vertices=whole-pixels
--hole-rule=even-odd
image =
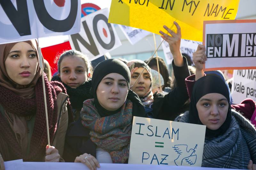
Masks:
[[[78,33],[79,0],[0,1],[0,44]]]

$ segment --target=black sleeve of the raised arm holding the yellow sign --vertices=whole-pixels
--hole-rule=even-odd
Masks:
[[[184,65],[178,67],[172,61],[172,67],[174,72],[174,77],[176,79],[177,86],[168,94],[164,96],[161,104],[158,107],[161,107],[160,111],[157,114],[157,119],[170,120],[173,121],[178,115],[176,113],[188,100],[188,92],[185,83],[185,79],[190,76],[188,70],[187,59],[183,57]]]

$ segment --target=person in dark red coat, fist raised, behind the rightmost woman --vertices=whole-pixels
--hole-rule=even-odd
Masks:
[[[205,47],[203,45],[198,45],[196,52],[193,54],[193,62],[195,63],[196,74],[186,78],[188,95],[190,98],[191,98],[191,92],[192,92],[192,89],[193,89],[193,86],[194,86],[196,80],[205,76],[203,68],[204,68],[204,63],[206,60],[207,60],[207,57],[205,54]],[[214,72],[215,72],[215,75],[217,75],[217,72],[216,71],[214,71]],[[219,76],[219,77],[222,78],[223,81],[225,81],[225,79],[222,76]],[[225,84],[227,85],[226,82],[225,82]],[[230,96],[230,98],[231,98],[231,96]],[[236,111],[240,112],[241,114],[243,114],[244,117],[251,120],[251,122],[254,125],[256,125],[256,121],[255,121],[256,103],[255,103],[255,101],[253,101],[252,99],[245,99],[240,104],[231,105],[231,107],[233,109],[236,109]]]

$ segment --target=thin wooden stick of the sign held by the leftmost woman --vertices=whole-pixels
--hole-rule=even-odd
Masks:
[[[48,122],[48,112],[47,112],[47,104],[46,104],[46,94],[45,94],[45,84],[44,84],[44,67],[43,67],[43,57],[41,53],[41,48],[38,48],[38,55],[39,55],[39,66],[41,68],[42,73],[42,81],[43,81],[43,91],[44,91],[44,108],[45,108],[45,116],[46,116],[46,128],[47,128],[47,138],[48,138],[48,145],[50,147],[50,134],[49,134],[49,122]]]

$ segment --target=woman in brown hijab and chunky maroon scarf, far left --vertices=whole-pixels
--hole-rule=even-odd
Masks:
[[[62,84],[48,82],[46,75],[41,75],[38,60],[35,40],[0,45],[2,161],[61,160],[68,127],[68,95]],[[47,145],[41,76],[44,76],[51,146]],[[3,164],[0,167],[4,169]]]

